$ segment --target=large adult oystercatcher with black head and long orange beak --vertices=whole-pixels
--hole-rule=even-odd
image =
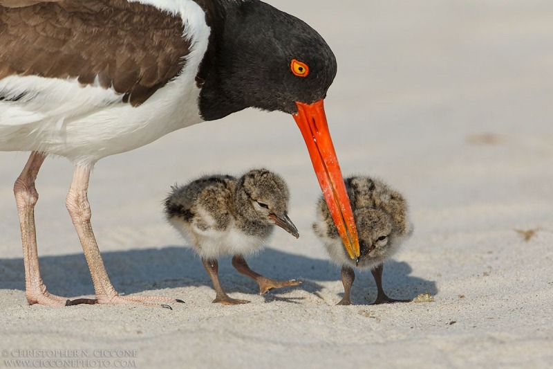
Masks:
[[[323,99],[335,56],[303,21],[256,0],[0,0],[0,150],[30,151],[15,182],[28,303],[159,303],[119,296],[90,218],[88,179],[104,156],[247,107],[292,114],[351,258],[353,213]],[[46,291],[35,179],[48,155],[75,165],[66,205],[95,300]]]

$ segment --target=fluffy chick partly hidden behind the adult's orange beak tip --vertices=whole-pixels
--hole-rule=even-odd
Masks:
[[[338,305],[351,305],[353,268],[356,267],[371,269],[378,291],[375,304],[410,301],[390,298],[382,288],[384,261],[391,258],[413,233],[406,200],[383,181],[370,177],[350,177],[346,179],[346,188],[359,231],[361,255],[357,262],[346,253],[323,199],[317,203],[317,222],[313,224],[313,231],[324,243],[330,260],[341,266],[344,297]]]

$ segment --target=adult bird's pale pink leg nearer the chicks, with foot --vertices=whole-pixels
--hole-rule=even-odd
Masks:
[[[79,235],[84,256],[91,271],[97,303],[123,304],[138,303],[156,307],[169,307],[162,303],[175,303],[181,300],[155,296],[119,296],[109,280],[104,261],[96,243],[91,225],[91,207],[88,203],[88,179],[90,179],[91,165],[75,165],[73,181],[67,194],[66,206],[73,220],[73,225]],[[169,307],[170,308],[170,307]]]

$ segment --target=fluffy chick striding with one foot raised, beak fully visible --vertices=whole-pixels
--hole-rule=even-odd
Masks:
[[[165,215],[200,255],[216,291],[214,303],[250,302],[230,298],[221,287],[217,258],[223,255],[232,255],[233,267],[255,280],[261,295],[273,288],[300,284],[297,280],[261,276],[244,260],[244,255],[261,250],[275,224],[299,237],[288,217],[289,200],[282,177],[264,168],[250,170],[239,178],[209,175],[172,188],[165,199]]]

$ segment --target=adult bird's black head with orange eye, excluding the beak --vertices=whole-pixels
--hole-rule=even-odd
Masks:
[[[297,114],[297,103],[326,97],[337,71],[334,53],[304,21],[262,1],[221,2],[223,22],[205,59],[200,108],[207,120],[247,107]],[[209,21],[208,21],[209,24]],[[209,51],[208,51],[209,53]],[[221,61],[225,62],[221,62]]]

